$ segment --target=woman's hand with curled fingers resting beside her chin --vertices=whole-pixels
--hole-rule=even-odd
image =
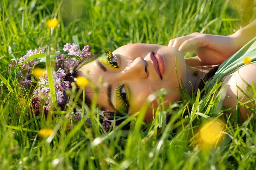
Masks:
[[[235,34],[220,36],[195,32],[170,40],[168,46],[179,49],[183,54],[195,52],[197,57],[186,58],[190,66],[219,65],[239,50]]]

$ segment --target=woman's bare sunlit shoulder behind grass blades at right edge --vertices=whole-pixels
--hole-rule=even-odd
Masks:
[[[255,108],[255,104],[253,104],[255,102],[250,102],[253,99],[253,92],[248,88],[248,86],[252,86],[252,81],[256,84],[256,63],[245,65],[224,78],[223,82],[228,86],[226,87],[227,94],[223,106],[225,108],[236,107],[238,100],[250,108]],[[231,112],[235,112],[235,109],[232,109]],[[245,121],[248,115],[252,114],[249,109],[241,105],[239,106],[239,113],[241,121]]]

